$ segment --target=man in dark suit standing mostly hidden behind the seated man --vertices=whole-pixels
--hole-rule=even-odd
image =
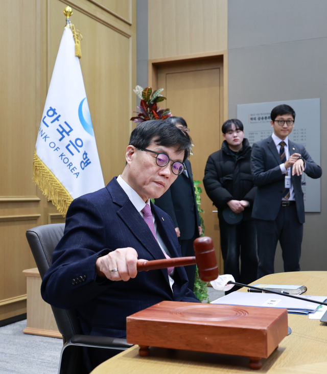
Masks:
[[[189,133],[188,125],[182,117],[170,117],[167,122]],[[166,212],[175,225],[182,256],[194,256],[193,242],[202,233],[194,191],[191,162],[184,161],[185,169],[164,195],[155,199],[155,204]],[[189,288],[193,290],[196,265],[186,266]]]

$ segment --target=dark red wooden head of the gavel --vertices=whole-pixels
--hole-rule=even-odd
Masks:
[[[213,240],[209,237],[197,238],[193,243],[193,247],[200,279],[203,282],[217,279],[219,269]]]

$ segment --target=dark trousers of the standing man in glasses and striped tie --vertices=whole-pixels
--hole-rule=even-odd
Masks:
[[[281,206],[274,221],[255,220],[258,231],[258,278],[274,273],[277,242],[281,243],[285,271],[300,271],[303,224],[296,204]]]

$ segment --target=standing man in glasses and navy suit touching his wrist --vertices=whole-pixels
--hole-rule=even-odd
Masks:
[[[278,240],[284,270],[300,271],[305,222],[301,175],[305,172],[320,178],[322,171],[304,146],[288,139],[294,120],[295,112],[289,105],[276,106],[270,122],[274,133],[252,147],[251,171],[258,186],[252,211],[258,233],[258,278],[274,273]]]

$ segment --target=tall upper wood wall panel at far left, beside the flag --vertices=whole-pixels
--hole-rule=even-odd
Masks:
[[[12,14],[16,18],[15,27],[9,26]],[[26,14],[30,17],[26,17]],[[33,158],[31,150],[35,147],[33,124],[36,122],[37,56],[36,53],[30,53],[36,51],[35,17],[34,1],[1,3],[0,22],[8,32],[0,34],[0,196],[36,195],[32,181],[33,170],[30,167],[30,157]]]

